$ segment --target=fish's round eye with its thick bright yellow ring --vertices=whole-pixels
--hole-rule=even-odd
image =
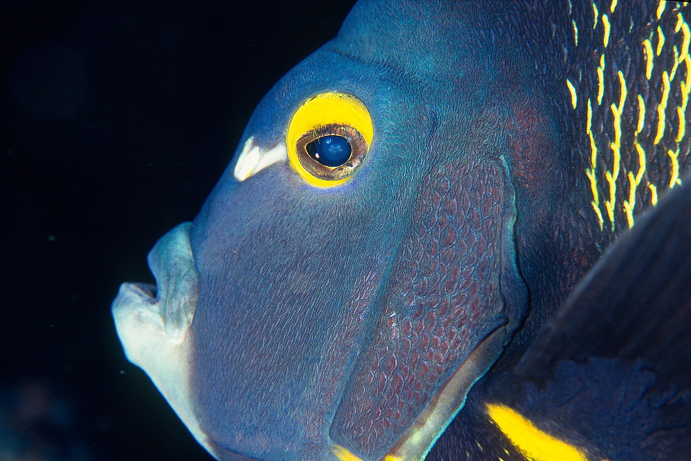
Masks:
[[[294,112],[286,137],[291,166],[307,184],[343,184],[361,166],[372,142],[370,113],[357,97],[325,92]]]

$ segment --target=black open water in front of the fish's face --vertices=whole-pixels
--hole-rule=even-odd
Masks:
[[[0,3],[0,461],[208,460],[110,303],[352,1]]]

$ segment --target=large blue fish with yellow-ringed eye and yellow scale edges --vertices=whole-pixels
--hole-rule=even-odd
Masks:
[[[683,459],[691,10],[361,0],[112,306],[218,460]]]

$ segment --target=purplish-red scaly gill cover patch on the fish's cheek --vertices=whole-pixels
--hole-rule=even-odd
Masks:
[[[370,344],[345,389],[332,440],[378,455],[477,344],[505,323],[500,166],[435,167],[422,182]]]

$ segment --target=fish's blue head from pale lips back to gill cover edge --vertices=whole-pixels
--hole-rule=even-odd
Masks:
[[[216,458],[422,459],[524,318],[502,75],[472,43],[444,61],[416,3],[421,36],[356,7],[283,77],[149,255],[158,288],[113,303]]]

